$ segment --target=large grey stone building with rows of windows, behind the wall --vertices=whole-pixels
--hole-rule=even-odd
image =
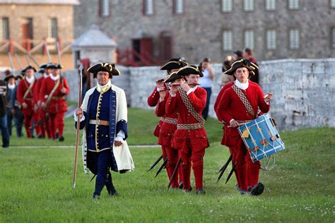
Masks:
[[[93,23],[119,49],[214,62],[251,47],[259,60],[335,56],[334,0],[80,0],[78,37]]]

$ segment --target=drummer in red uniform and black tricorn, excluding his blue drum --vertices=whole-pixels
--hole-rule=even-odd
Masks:
[[[259,85],[249,84],[249,72],[254,71],[247,60],[235,61],[225,74],[235,76],[234,85],[223,92],[222,99],[218,104],[218,113],[226,125],[230,126],[226,131],[223,145],[233,147],[233,160],[236,162],[237,184],[240,186],[240,193],[245,195],[260,195],[264,191],[263,183],[259,182],[260,162],[253,163],[249,152],[245,147],[237,127],[257,119],[258,108],[266,113],[270,109],[272,92],[265,97]],[[248,168],[247,168],[248,167]],[[248,188],[249,183],[251,184]]]

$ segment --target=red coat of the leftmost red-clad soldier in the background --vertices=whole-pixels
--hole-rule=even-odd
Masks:
[[[36,92],[36,80],[33,83],[33,88],[31,88],[31,91],[28,92],[28,95],[25,97],[25,100],[23,100],[23,96],[25,95],[25,92],[28,90],[30,86],[30,83],[28,83],[27,80],[23,79],[20,81],[20,83],[18,84],[18,91],[16,92],[16,97],[18,102],[22,105],[23,102],[25,102],[26,104],[28,104],[28,107],[26,109],[22,108],[22,113],[25,115],[32,115],[33,114],[33,96]]]

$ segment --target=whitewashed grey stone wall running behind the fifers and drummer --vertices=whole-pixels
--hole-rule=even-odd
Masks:
[[[274,92],[271,116],[276,119],[279,129],[335,126],[335,59],[263,61],[259,66],[264,94]],[[216,117],[213,105],[221,89],[222,73],[221,64],[212,67],[215,79],[209,115]],[[155,87],[155,80],[162,78],[165,72],[157,66],[117,68],[122,75],[114,77],[112,82],[126,91],[129,106],[153,109],[148,107],[147,99]],[[66,76],[73,77],[72,74]],[[72,79],[69,80],[72,90],[69,100],[76,101],[78,80]]]

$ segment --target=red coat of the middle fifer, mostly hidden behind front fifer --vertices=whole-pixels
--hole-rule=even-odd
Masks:
[[[172,114],[166,114],[165,112],[165,105],[166,105],[168,98],[169,98],[169,94],[167,93],[165,95],[165,99],[161,102],[158,102],[156,106],[155,114],[158,117],[177,119],[178,118],[177,112],[173,112]],[[163,121],[162,125],[160,126],[158,144],[163,145],[163,146],[171,146],[172,136],[175,134],[176,129],[177,129],[177,124],[167,123]]]

